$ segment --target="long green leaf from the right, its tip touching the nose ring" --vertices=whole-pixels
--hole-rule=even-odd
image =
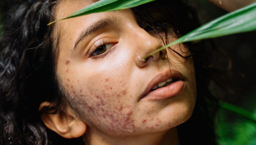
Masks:
[[[202,39],[209,39],[215,37],[221,37],[225,35],[249,32],[256,30],[256,3],[248,5],[232,13],[221,16],[191,32],[180,37],[176,41],[161,47],[150,54],[148,54],[144,59],[157,53],[167,47],[172,45],[189,42],[198,41]]]

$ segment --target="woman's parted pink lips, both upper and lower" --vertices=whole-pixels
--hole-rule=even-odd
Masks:
[[[156,89],[154,91],[150,90],[160,82],[166,81],[169,78],[177,78],[178,81],[171,83],[168,86]],[[166,70],[162,73],[158,73],[147,85],[143,91],[139,101],[141,100],[161,100],[179,94],[185,86],[183,75],[176,70]]]

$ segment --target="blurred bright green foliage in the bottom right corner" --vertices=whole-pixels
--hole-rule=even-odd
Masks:
[[[240,110],[241,108],[234,109],[234,107],[237,108],[234,105],[231,105],[231,107],[226,106],[230,106],[230,104],[227,105],[227,103],[224,103],[224,107],[221,107],[216,120],[216,132],[219,136],[218,143],[220,145],[256,145],[255,122],[244,115],[238,115],[241,113],[237,113],[237,111],[230,113],[231,110]],[[256,116],[256,108],[254,113],[250,113],[250,115]]]

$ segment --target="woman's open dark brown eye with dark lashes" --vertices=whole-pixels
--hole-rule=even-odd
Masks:
[[[105,41],[101,41],[99,43],[94,44],[92,51],[89,51],[88,54],[90,56],[101,55],[107,52],[112,46],[116,43],[106,43]]]

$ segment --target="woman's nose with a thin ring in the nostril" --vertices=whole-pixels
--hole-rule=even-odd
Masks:
[[[157,35],[157,34],[156,34]],[[160,41],[155,35],[148,33],[142,28],[136,30],[136,35],[134,35],[134,42],[136,42],[137,50],[135,51],[135,63],[138,67],[145,67],[150,63],[159,61],[159,59],[167,59],[166,51],[161,50],[153,55],[149,56],[146,60],[144,59],[149,53],[161,48],[163,42]]]

